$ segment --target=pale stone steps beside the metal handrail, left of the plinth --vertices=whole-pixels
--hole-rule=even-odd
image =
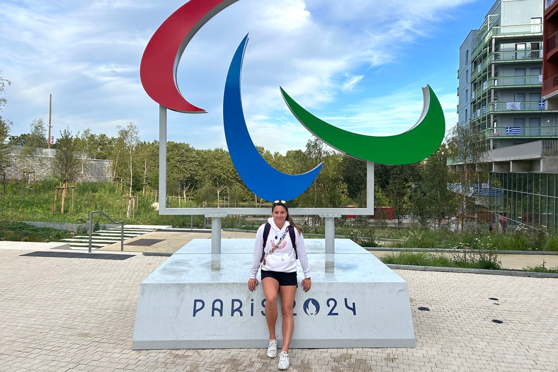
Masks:
[[[170,228],[171,226],[157,225],[124,225],[124,242],[128,239],[146,234],[148,232],[158,231],[162,228]],[[110,244],[118,243],[121,240],[121,228],[113,227],[107,230],[94,231],[91,236],[91,248],[98,249]],[[70,249],[88,249],[89,234],[76,235],[71,238],[61,239],[60,242],[69,243]]]

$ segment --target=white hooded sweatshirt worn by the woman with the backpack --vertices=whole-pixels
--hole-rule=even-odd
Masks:
[[[273,217],[268,218],[267,222],[270,223],[270,235],[267,237],[265,252],[266,254],[281,240],[283,233],[287,230],[290,224],[285,221],[283,228],[278,228],[273,221]],[[256,242],[254,243],[254,254],[252,256],[252,267],[250,268],[250,278],[256,278],[260,260],[263,254],[263,229],[265,223],[258,228],[256,233]],[[304,237],[295,228],[296,237],[296,253],[299,256],[300,265],[304,272],[304,278],[310,278],[310,265],[308,257],[306,256],[306,246],[304,245]],[[296,255],[295,249],[292,247],[291,237],[287,232],[285,239],[280,246],[278,246],[272,254],[266,257],[266,264],[262,263],[262,270],[267,271],[281,271],[282,273],[295,273],[296,272]]]

